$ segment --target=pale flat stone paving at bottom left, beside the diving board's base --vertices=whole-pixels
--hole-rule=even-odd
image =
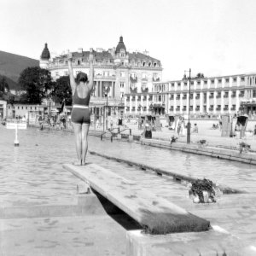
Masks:
[[[1,256],[121,256],[125,229],[108,215],[0,219]]]

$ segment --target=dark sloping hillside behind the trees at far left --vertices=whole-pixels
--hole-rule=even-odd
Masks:
[[[20,73],[26,67],[38,67],[39,61],[31,58],[27,58],[21,55],[14,55],[8,52],[4,52],[0,50],[0,75],[11,79],[8,80],[10,89],[14,89],[15,83],[18,82],[20,77]]]

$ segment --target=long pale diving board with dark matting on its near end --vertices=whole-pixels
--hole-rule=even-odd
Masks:
[[[63,165],[92,189],[111,201],[116,207],[137,220],[150,234],[204,231],[210,227],[209,221],[199,218],[171,201],[154,195],[140,184],[97,166]]]

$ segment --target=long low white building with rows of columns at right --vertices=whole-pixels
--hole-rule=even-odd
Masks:
[[[256,73],[154,82],[152,92],[125,95],[127,114],[256,114]],[[246,102],[246,103],[245,103]],[[254,103],[254,104],[253,104]]]

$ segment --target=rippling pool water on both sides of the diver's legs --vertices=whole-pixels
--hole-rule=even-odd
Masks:
[[[74,200],[77,177],[62,168],[63,163],[76,160],[73,133],[66,131],[19,131],[20,147],[14,147],[14,130],[0,127],[0,202],[2,206],[33,206],[67,204]],[[255,193],[256,173],[253,166],[218,160],[196,154],[185,154],[138,143],[89,138],[89,149],[135,160],[192,177],[207,177],[236,189]],[[142,171],[113,160],[88,154],[88,162],[106,167],[119,175],[139,181],[157,195],[180,198],[188,195],[183,185],[170,177],[158,177],[154,172]]]

